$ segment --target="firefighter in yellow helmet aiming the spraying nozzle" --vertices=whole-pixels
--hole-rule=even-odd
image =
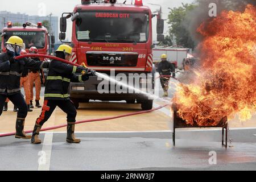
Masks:
[[[61,45],[56,51],[56,57],[70,60],[72,55],[72,47],[68,45]],[[75,73],[85,73],[84,75],[75,75]],[[73,102],[69,99],[68,87],[69,82],[84,82],[88,80],[89,76],[95,75],[96,72],[85,67],[75,67],[57,60],[52,60],[49,65],[48,76],[46,79],[46,90],[44,93],[44,105],[42,113],[36,119],[35,127],[32,134],[31,142],[39,144],[42,141],[39,139],[39,131],[43,124],[51,117],[56,106],[60,107],[67,113],[67,142],[80,143],[80,139],[76,139],[75,122],[76,122],[76,108]]]

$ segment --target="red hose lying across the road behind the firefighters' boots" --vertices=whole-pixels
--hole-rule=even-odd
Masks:
[[[106,120],[111,120],[111,119],[118,119],[118,118],[123,118],[123,117],[129,117],[131,115],[151,113],[152,111],[156,111],[156,110],[162,109],[163,107],[166,107],[166,106],[169,106],[169,104],[166,104],[166,105],[163,105],[163,106],[159,106],[159,107],[156,107],[155,109],[146,110],[146,111],[139,111],[139,112],[135,112],[135,113],[122,114],[122,115],[117,115],[117,116],[113,116],[113,117],[98,118],[98,119],[87,119],[87,120],[84,120],[84,121],[77,121],[76,125],[77,124],[81,124],[81,123],[96,122],[96,121],[106,121]],[[63,125],[59,125],[59,126],[48,127],[46,129],[42,129],[40,131],[56,130],[56,129],[60,129],[60,128],[66,127],[66,126],[67,126],[67,124],[63,124]],[[25,133],[32,133],[32,132],[33,132],[32,130],[25,131]],[[0,134],[0,138],[1,137],[10,137],[10,136],[13,136],[13,135],[15,135],[15,132],[14,133]]]

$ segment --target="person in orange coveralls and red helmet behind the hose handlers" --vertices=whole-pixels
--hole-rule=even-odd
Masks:
[[[38,53],[38,49],[36,47],[31,47],[29,49],[30,53],[32,54],[37,54]],[[32,59],[34,59],[35,61],[40,61],[40,59],[38,57],[31,57]],[[30,69],[30,73],[28,74],[29,80],[30,80],[30,107],[34,108],[33,106],[33,99],[34,99],[34,92],[33,92],[33,88],[34,88],[34,83],[35,83],[35,91],[36,91],[36,107],[40,108],[42,107],[39,103],[40,101],[40,92],[41,92],[41,77],[40,77],[40,73],[43,77],[43,82],[44,82],[44,73],[43,73],[43,69]]]

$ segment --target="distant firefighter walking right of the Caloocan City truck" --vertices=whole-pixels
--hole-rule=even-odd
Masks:
[[[161,55],[161,62],[158,64],[158,72],[160,74],[160,82],[164,90],[163,97],[168,97],[168,88],[170,77],[175,77],[175,67],[169,61],[167,61],[167,55]],[[164,77],[166,76],[166,77]]]

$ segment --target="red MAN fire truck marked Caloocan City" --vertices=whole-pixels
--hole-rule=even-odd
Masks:
[[[143,6],[142,0],[135,0],[133,5],[126,5],[125,2],[116,3],[115,0],[82,0],[81,5],[77,5],[73,13],[63,13],[60,19],[59,38],[64,42],[67,19],[71,18],[73,27],[70,44],[73,47],[73,62],[85,63],[86,67],[107,75],[112,75],[111,71],[114,70],[114,76],[121,73],[127,76],[127,80],[139,80],[139,89],[147,88],[148,93],[154,93],[154,16],[156,15],[151,13],[149,7]],[[159,15],[157,17],[158,40],[162,40],[164,22]],[[146,78],[140,78],[143,73]],[[71,83],[70,96],[75,106],[78,108],[79,102],[89,100],[125,100],[128,104],[134,104],[137,100],[143,110],[152,109],[151,98],[136,92],[118,93],[111,83],[105,85],[109,92],[98,92],[101,82],[102,80],[95,76],[86,82]]]

